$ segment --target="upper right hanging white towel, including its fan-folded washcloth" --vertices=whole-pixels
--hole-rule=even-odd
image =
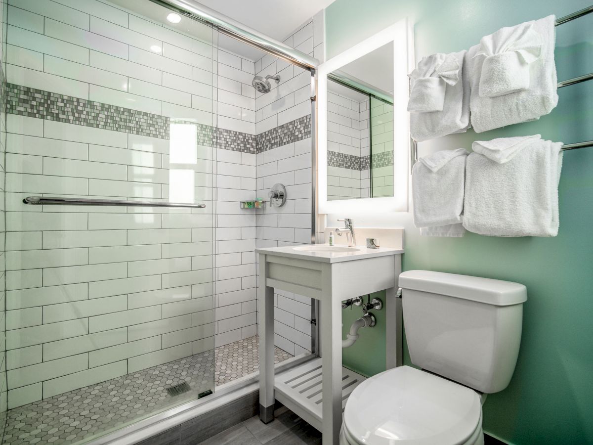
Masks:
[[[517,27],[502,28],[499,34],[484,37],[480,45],[470,48],[466,71],[471,84],[471,125],[477,133],[539,119],[556,107],[555,20],[549,15]],[[519,40],[512,42],[514,38]],[[490,54],[505,55],[491,59]],[[527,85],[527,89],[521,89]]]

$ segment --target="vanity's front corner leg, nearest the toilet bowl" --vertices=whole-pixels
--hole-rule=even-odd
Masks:
[[[340,301],[326,298],[321,302],[321,360],[323,364],[324,445],[339,443],[342,427],[342,306]]]

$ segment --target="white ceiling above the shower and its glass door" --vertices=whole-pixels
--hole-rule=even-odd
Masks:
[[[166,24],[171,28],[196,35],[203,39],[205,30],[198,22],[182,18],[178,24],[168,23],[165,17],[168,11],[149,0],[110,0],[144,17]],[[273,39],[284,40],[305,21],[326,8],[334,0],[202,0],[199,3],[214,9],[223,15],[247,25]],[[192,23],[193,22],[193,23]],[[219,47],[225,48],[251,61],[262,58],[264,52],[219,34]]]

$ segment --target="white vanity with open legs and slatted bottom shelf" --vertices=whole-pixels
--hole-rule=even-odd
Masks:
[[[260,418],[273,420],[275,399],[337,444],[347,396],[365,377],[342,367],[341,301],[387,290],[387,367],[401,363],[401,300],[396,298],[401,249],[310,246],[256,249],[259,253]],[[274,374],[274,289],[320,303],[318,355]]]

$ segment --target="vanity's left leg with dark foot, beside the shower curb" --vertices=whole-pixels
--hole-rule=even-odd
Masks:
[[[259,255],[259,364],[260,419],[267,424],[274,419],[274,288],[266,286],[268,263]]]

